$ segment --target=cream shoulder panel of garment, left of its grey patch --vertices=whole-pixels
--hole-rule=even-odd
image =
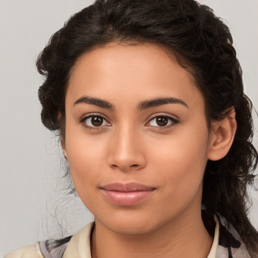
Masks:
[[[42,255],[39,243],[35,245],[24,246],[14,252],[11,252],[5,258],[44,258]]]

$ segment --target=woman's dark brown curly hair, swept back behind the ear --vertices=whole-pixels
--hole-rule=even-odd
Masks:
[[[209,7],[193,0],[97,0],[72,16],[39,54],[45,77],[38,96],[43,124],[64,137],[64,99],[78,57],[110,42],[158,44],[196,80],[205,99],[207,124],[234,108],[236,135],[228,154],[208,161],[202,204],[238,231],[252,257],[258,233],[248,220],[247,185],[253,183],[257,152],[251,144],[252,104],[243,93],[242,72],[229,28]]]

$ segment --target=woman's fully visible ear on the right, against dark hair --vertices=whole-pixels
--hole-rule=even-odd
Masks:
[[[212,123],[211,142],[208,159],[219,160],[225,157],[233,143],[236,133],[235,109],[232,108],[222,121]]]

